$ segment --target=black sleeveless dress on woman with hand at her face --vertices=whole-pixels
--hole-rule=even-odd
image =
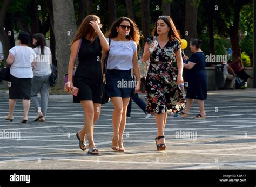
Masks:
[[[102,103],[104,84],[100,66],[101,56],[102,47],[98,37],[92,44],[86,38],[82,38],[78,52],[79,64],[73,81],[74,86],[79,88],[78,95],[73,96],[74,103],[80,103],[81,100]]]

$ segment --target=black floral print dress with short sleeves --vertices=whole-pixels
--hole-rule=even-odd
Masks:
[[[149,37],[147,44],[154,40],[156,37]],[[185,97],[178,87],[177,75],[172,67],[174,52],[180,47],[177,39],[170,40],[163,49],[158,45],[151,54],[146,78],[147,113],[177,113],[185,108]]]

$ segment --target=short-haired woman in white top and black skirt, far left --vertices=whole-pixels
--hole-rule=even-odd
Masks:
[[[4,119],[12,121],[14,119],[14,107],[17,99],[22,99],[24,114],[21,123],[28,121],[30,108],[31,80],[33,72],[31,63],[34,61],[35,52],[28,47],[30,34],[20,32],[18,45],[9,50],[7,63],[11,65],[9,82],[9,114]]]

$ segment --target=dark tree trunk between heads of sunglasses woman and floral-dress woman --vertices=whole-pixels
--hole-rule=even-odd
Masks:
[[[144,50],[144,44],[150,36],[150,0],[142,0],[140,8],[142,9],[142,50]]]

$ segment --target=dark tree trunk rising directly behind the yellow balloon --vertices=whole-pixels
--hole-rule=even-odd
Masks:
[[[185,40],[188,43],[191,38],[197,38],[197,9],[198,0],[185,0]],[[185,49],[185,54],[192,55],[189,47]]]

